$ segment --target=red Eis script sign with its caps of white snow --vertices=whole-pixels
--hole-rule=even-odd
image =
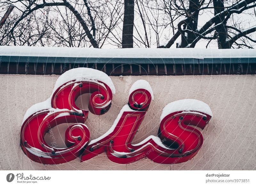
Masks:
[[[161,115],[158,136],[148,136],[138,144],[132,139],[145,117],[153,91],[145,80],[136,81],[112,127],[102,136],[90,141],[84,124],[88,110],[78,108],[78,96],[90,93],[89,110],[101,115],[111,105],[115,87],[107,74],[90,68],[75,68],[62,74],[49,99],[33,105],[24,116],[20,143],[24,153],[33,161],[44,164],[65,163],[81,155],[85,161],[106,151],[111,161],[128,164],[148,157],[157,163],[181,163],[193,158],[203,144],[199,130],[212,118],[207,104],[184,99],[166,105]],[[65,132],[66,148],[47,144],[45,134],[61,123],[74,123]]]

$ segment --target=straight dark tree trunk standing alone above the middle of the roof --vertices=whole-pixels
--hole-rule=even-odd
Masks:
[[[124,0],[122,47],[133,48],[134,0]]]

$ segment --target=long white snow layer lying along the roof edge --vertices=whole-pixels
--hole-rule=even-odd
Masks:
[[[255,58],[256,49],[130,48],[0,46],[0,56],[72,58]]]

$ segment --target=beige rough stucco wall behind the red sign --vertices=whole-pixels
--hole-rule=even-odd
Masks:
[[[0,75],[0,167],[1,170],[255,170],[256,167],[256,76],[124,76],[111,77],[115,87],[108,113],[89,113],[86,123],[91,138],[105,133],[128,100],[133,82],[147,80],[154,91],[134,142],[156,135],[164,106],[172,101],[194,98],[207,103],[213,112],[202,131],[204,144],[196,157],[180,164],[163,165],[149,159],[121,165],[105,153],[88,161],[75,159],[59,165],[43,165],[28,159],[20,148],[20,128],[27,109],[44,101],[51,93],[57,75]],[[86,97],[86,96],[85,96]],[[79,103],[77,103],[79,104]],[[58,133],[58,131],[56,130]],[[58,134],[56,134],[58,135]]]

